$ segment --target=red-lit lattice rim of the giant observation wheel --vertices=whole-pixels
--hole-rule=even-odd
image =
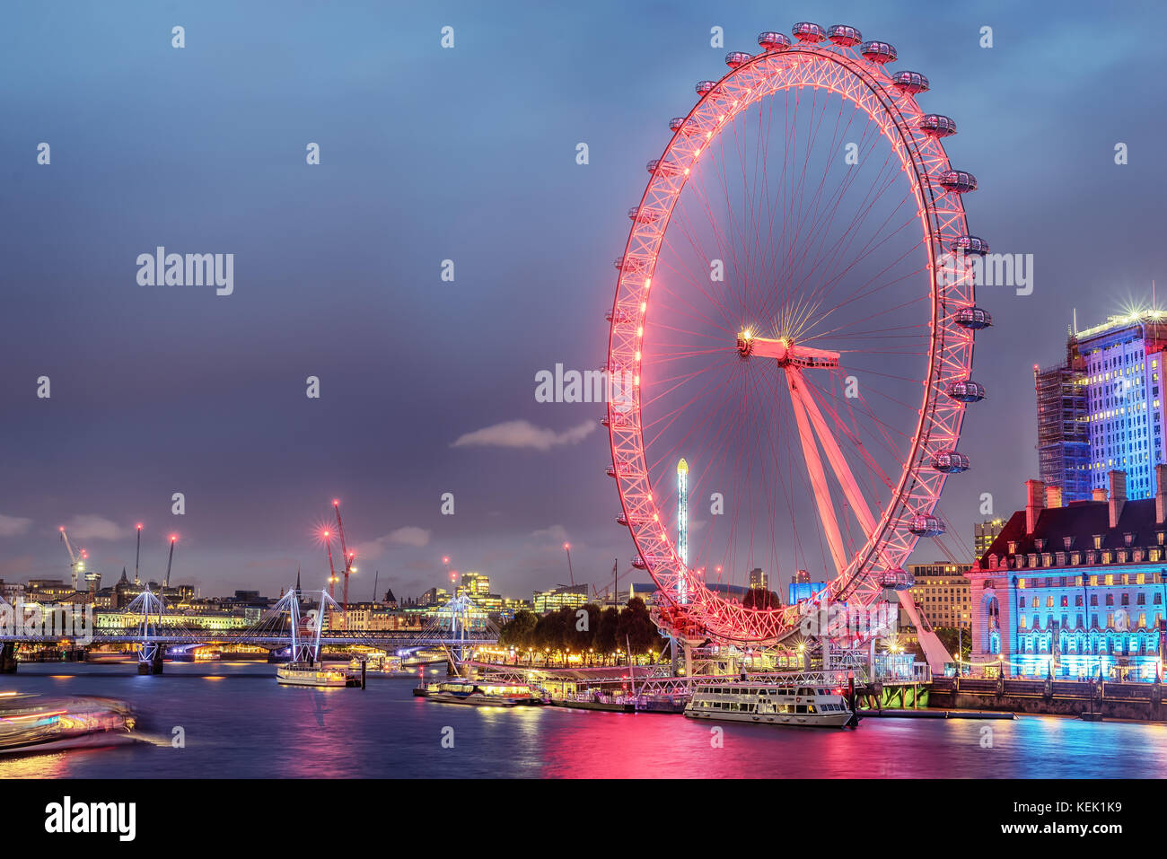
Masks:
[[[741,56],[742,55],[735,54],[731,55],[731,57],[738,58]],[[792,61],[791,57],[794,58]],[[847,83],[850,83],[852,88],[857,85],[865,88],[869,93],[871,99],[865,103],[854,97],[853,89],[844,90],[843,88],[831,85],[830,83],[824,83],[820,79],[810,79],[812,74],[805,74],[801,79],[791,81],[784,86],[771,85],[769,89],[764,88],[764,84],[768,81],[773,81],[774,78],[788,74],[794,76],[795,70],[801,69],[802,71],[808,71],[816,64],[823,63],[830,63],[839,67],[838,72],[845,77]],[[728,107],[726,107],[722,102],[719,102],[719,97],[727,92],[728,83],[733,82],[736,77],[750,75],[752,71],[756,72],[760,67],[767,68],[763,71],[762,79],[760,79],[757,84],[749,90],[749,93],[753,95],[759,90],[764,90],[764,92],[761,92],[752,98],[739,98]],[[836,50],[809,44],[794,46],[787,50],[763,50],[761,54],[749,58],[748,61],[739,62],[739,64],[733,65],[720,81],[700,93],[701,97],[686,114],[680,125],[675,128],[673,137],[669,141],[661,158],[656,161],[658,166],[671,165],[671,169],[673,170],[680,170],[683,165],[687,165],[691,168],[697,163],[701,153],[710,148],[708,145],[712,144],[714,137],[719,135],[722,130],[727,127],[727,124],[750,104],[754,104],[762,98],[771,97],[780,90],[784,89],[825,89],[841,96],[846,100],[852,102],[858,109],[862,110],[867,114],[869,123],[875,123],[880,126],[881,134],[892,144],[893,151],[900,160],[901,172],[908,176],[911,182],[913,198],[917,208],[916,214],[922,225],[922,240],[925,243],[929,259],[928,277],[931,322],[928,378],[923,382],[924,393],[921,399],[920,415],[913,435],[910,454],[908,461],[901,470],[895,494],[880,511],[880,518],[875,533],[869,536],[861,551],[854,553],[847,571],[840,572],[831,581],[831,593],[833,595],[844,596],[852,593],[859,593],[860,587],[865,584],[861,580],[865,577],[869,577],[872,573],[869,561],[876,556],[881,546],[886,544],[887,533],[889,529],[894,528],[896,516],[900,515],[902,518],[902,512],[908,512],[909,503],[911,503],[916,497],[913,495],[913,491],[921,483],[918,480],[918,473],[921,470],[921,460],[924,455],[922,454],[922,451],[925,446],[925,438],[929,440],[931,439],[931,431],[938,422],[937,408],[941,405],[944,405],[946,410],[951,412],[951,415],[948,419],[949,425],[945,439],[950,440],[950,447],[956,447],[956,441],[959,439],[959,430],[964,417],[964,405],[956,401],[946,404],[942,403],[944,399],[944,391],[942,387],[945,380],[951,380],[952,378],[967,378],[972,364],[972,335],[960,330],[959,326],[955,323],[953,314],[951,313],[952,308],[949,307],[950,299],[955,299],[958,306],[973,306],[973,288],[971,280],[957,284],[956,286],[958,288],[951,296],[948,293],[942,292],[937,281],[937,254],[943,252],[944,242],[959,236],[966,236],[967,233],[964,207],[960,202],[959,195],[952,195],[955,200],[949,201],[950,204],[944,210],[944,217],[941,217],[941,210],[938,209],[937,203],[944,197],[945,189],[943,189],[939,184],[939,176],[951,172],[951,166],[938,138],[929,137],[922,132],[918,126],[913,127],[909,125],[910,120],[916,120],[918,123],[920,118],[924,116],[923,111],[915,102],[914,93],[911,91],[895,91],[894,86],[895,84],[893,83],[893,79],[886,74],[881,63],[871,61],[865,62],[864,60],[860,60],[858,54],[853,50]],[[711,103],[717,104],[719,107],[726,107],[722,116],[718,123],[708,130],[710,133],[706,133],[706,144],[698,146],[690,155],[690,160],[687,162],[683,159],[678,160],[675,158],[679,148],[678,142],[686,140],[687,137],[696,133],[693,130],[686,132],[685,124],[694,121],[694,118],[698,117],[703,106],[707,109]],[[901,107],[907,110],[901,110]],[[875,113],[876,109],[881,111],[880,117]],[[705,131],[705,128],[698,128],[697,131]],[[892,132],[894,132],[895,137],[899,139],[899,147],[892,138]],[[922,146],[925,141],[931,142],[931,152],[927,155],[922,152]],[[679,606],[680,603],[678,603],[677,594],[669,586],[668,577],[664,572],[662,572],[662,570],[664,566],[670,564],[672,566],[678,566],[678,558],[676,545],[670,539],[664,523],[661,522],[659,509],[652,501],[652,483],[644,453],[644,425],[640,400],[640,371],[643,358],[640,351],[635,351],[634,359],[629,362],[627,347],[621,350],[617,341],[621,338],[621,330],[623,328],[635,328],[638,324],[640,331],[643,334],[644,320],[647,319],[648,309],[651,306],[651,300],[649,299],[651,278],[656,272],[656,265],[659,260],[662,245],[668,232],[669,223],[672,218],[673,207],[687,184],[687,174],[689,169],[684,169],[683,177],[673,183],[671,190],[654,195],[654,186],[658,179],[658,172],[654,170],[654,175],[649,179],[644,194],[641,197],[641,202],[634,210],[636,216],[634,217],[633,226],[629,231],[629,237],[624,246],[624,256],[621,258],[621,271],[616,282],[616,294],[612,310],[612,327],[609,329],[608,364],[606,368],[609,373],[616,373],[619,371],[627,372],[630,364],[634,379],[634,405],[628,410],[620,411],[614,406],[614,401],[609,400],[607,415],[609,447],[613,454],[613,476],[616,479],[621,497],[623,519],[633,536],[640,558],[643,559],[644,568],[661,588],[665,600],[673,606]],[[662,202],[666,203],[666,205],[662,207]],[[659,229],[656,229],[655,232],[648,231],[647,235],[652,240],[637,247],[637,232],[642,229],[640,214],[648,204],[657,207],[658,217],[656,217],[654,222],[659,223],[661,226]],[[648,252],[645,252],[645,247],[649,249]],[[635,258],[645,260],[642,272],[645,282],[642,293],[634,293],[633,288],[635,287],[629,288],[629,275],[626,271],[626,266],[628,265],[628,260],[634,258],[634,254],[637,254]],[[965,291],[964,295],[959,294],[960,289]],[[636,317],[637,324],[631,324],[622,312],[622,298],[626,299],[623,303],[627,306],[629,303],[627,299],[634,296],[635,294],[642,295],[643,303],[641,305],[640,313]],[[627,340],[627,334],[624,335],[624,338]],[[955,350],[958,354],[956,361],[942,351],[946,348],[946,344],[950,341],[956,344]],[[631,446],[629,446],[629,441],[633,442]],[[629,459],[629,455],[631,459]],[[628,469],[629,465],[633,466],[631,470],[634,470],[635,474]],[[914,503],[914,509],[910,512],[915,514],[917,511],[922,511],[927,507],[927,512],[930,515],[935,509],[939,490],[944,484],[944,474],[932,476],[929,481],[930,487],[927,489],[928,503]],[[629,500],[637,493],[641,495],[641,501],[636,504],[630,504]],[[648,498],[648,507],[645,507],[644,503],[645,496]],[[647,521],[637,521],[635,518],[640,509],[648,508],[651,508],[654,512],[651,525]],[[640,519],[643,518],[643,516],[640,517]],[[651,529],[651,533],[649,529]],[[908,554],[910,554],[910,551],[915,546],[917,539],[918,537],[907,540],[901,539],[901,545],[896,550],[896,553],[902,556],[900,558],[901,563],[907,559]],[[655,546],[652,545],[654,542],[656,544]],[[907,544],[906,549],[904,544]],[[662,546],[666,549],[664,553],[659,551],[648,551],[654,547],[661,549]],[[664,556],[663,564],[662,554]],[[680,568],[677,571],[677,575],[684,575],[687,572],[689,571]],[[847,580],[841,581],[845,578]],[[871,582],[866,584],[869,585]],[[705,582],[697,582],[697,585],[698,588],[694,588],[694,593],[699,598],[698,608],[706,615],[700,620],[707,628],[719,633],[719,637],[741,642],[766,641],[789,633],[790,628],[794,626],[794,621],[797,620],[794,607],[761,610],[746,609],[745,607],[731,603],[722,596],[715,594],[705,585]],[[686,609],[687,608],[690,608],[690,606],[686,603]],[[711,608],[718,616],[712,619],[707,616]],[[712,621],[712,623],[710,621]]]

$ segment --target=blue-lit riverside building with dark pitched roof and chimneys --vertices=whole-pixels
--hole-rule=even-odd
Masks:
[[[974,664],[1039,678],[1161,676],[1167,466],[1155,472],[1155,496],[1138,500],[1117,469],[1097,500],[1069,504],[1026,482],[1025,510],[969,573]]]

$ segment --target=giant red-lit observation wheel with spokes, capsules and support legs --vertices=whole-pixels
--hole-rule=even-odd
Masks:
[[[969,468],[960,422],[985,396],[973,333],[992,321],[950,266],[988,250],[962,203],[976,179],[941,144],[956,124],[916,104],[923,75],[888,72],[890,44],[792,35],[762,33],[697,85],[616,260],[617,522],[689,638],[798,627],[805,605],[718,587],[750,571],[808,571],[848,605],[902,589],[916,542],[944,531],[936,502]]]

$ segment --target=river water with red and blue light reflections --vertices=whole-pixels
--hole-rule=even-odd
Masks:
[[[413,697],[415,677],[371,676],[363,691],[312,690],[278,685],[265,663],[168,663],[166,671],[140,677],[132,664],[30,664],[0,677],[0,691],[128,701],[151,740],[8,756],[0,777],[1167,775],[1163,725],[1060,717],[868,718],[855,731],[725,724],[719,747],[708,722],[680,715],[435,704]],[[172,742],[175,728],[181,748]]]

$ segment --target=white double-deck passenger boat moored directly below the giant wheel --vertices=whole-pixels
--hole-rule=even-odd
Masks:
[[[734,682],[703,684],[685,707],[691,719],[764,725],[844,727],[852,712],[846,698],[823,686]]]

